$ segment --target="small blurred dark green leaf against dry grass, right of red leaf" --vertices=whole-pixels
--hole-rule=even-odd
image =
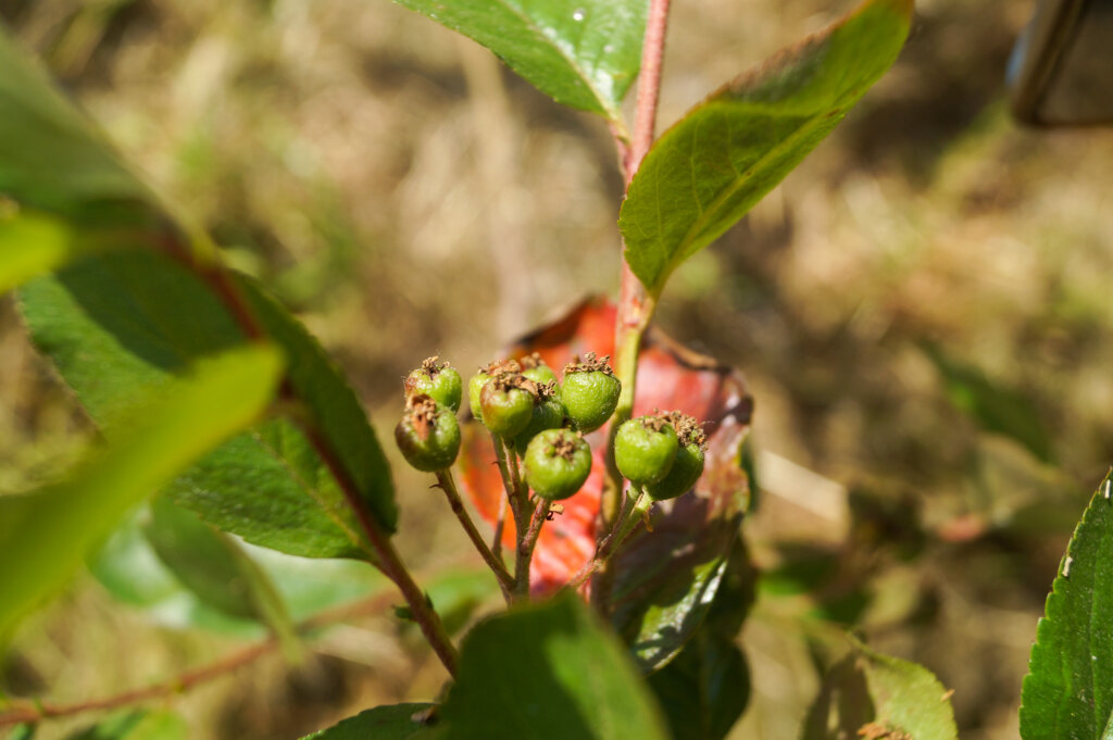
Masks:
[[[986,432],[1011,437],[1040,460],[1051,462],[1051,437],[1028,396],[989,379],[977,367],[948,357],[939,347],[928,345],[925,352],[938,369],[947,398],[956,408],[974,418]]]

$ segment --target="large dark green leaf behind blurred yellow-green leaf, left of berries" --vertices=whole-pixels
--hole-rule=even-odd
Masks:
[[[375,511],[388,515],[386,463],[354,394],[293,317],[254,287],[244,288],[260,320],[297,358],[290,384],[306,393],[332,435],[348,435],[344,462],[367,499],[378,502]],[[155,392],[190,361],[245,341],[204,283],[149,251],[78,260],[27,284],[20,297],[33,342],[107,434],[135,394]],[[328,467],[285,417],[221,445],[177,478],[169,494],[255,544],[295,555],[372,559]]]

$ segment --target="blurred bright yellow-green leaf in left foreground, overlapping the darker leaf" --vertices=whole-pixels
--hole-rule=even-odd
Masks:
[[[69,481],[0,497],[0,551],[13,559],[0,580],[0,633],[56,589],[128,509],[258,418],[280,373],[269,346],[204,359],[157,401],[134,407],[108,451]]]

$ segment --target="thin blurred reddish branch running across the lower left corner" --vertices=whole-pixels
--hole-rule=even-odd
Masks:
[[[314,630],[342,622],[353,616],[374,614],[390,606],[393,600],[393,593],[377,593],[362,601],[345,604],[337,606],[336,609],[315,614],[314,616],[311,616],[304,622],[297,624],[296,629],[298,634],[306,634],[313,632]],[[259,658],[278,650],[279,648],[279,641],[272,637],[262,642],[247,645],[236,652],[229,653],[228,655],[225,655],[208,665],[183,671],[169,681],[156,683],[142,689],[122,691],[120,693],[112,694],[110,697],[102,697],[100,699],[92,699],[72,704],[53,704],[43,701],[21,701],[16,703],[11,709],[0,712],[0,728],[28,722],[33,723],[46,719],[60,719],[63,717],[73,717],[76,714],[85,714],[88,712],[119,709],[121,707],[130,707],[132,704],[154,701],[156,699],[174,697],[201,683],[227,675],[233,671],[248,665]]]

